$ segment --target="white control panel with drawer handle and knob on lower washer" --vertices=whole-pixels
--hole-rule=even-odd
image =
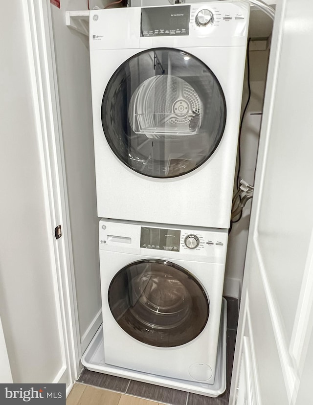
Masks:
[[[165,260],[193,260],[224,264],[227,229],[179,227],[102,219],[99,248]]]

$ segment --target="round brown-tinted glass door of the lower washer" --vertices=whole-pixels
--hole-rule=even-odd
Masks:
[[[200,283],[187,270],[164,260],[140,260],[124,267],[113,278],[108,299],[125,332],[157,347],[193,340],[209,316]]]

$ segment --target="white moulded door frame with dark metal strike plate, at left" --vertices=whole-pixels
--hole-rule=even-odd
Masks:
[[[52,32],[50,1],[26,0],[23,2],[29,64],[38,138],[45,183],[48,226],[54,236],[54,228],[62,226],[62,237],[53,238],[54,289],[58,312],[60,343],[63,346],[61,370],[68,367],[70,384],[81,370],[81,347],[78,310],[74,278],[73,250],[69,222],[67,181],[55,53]],[[62,377],[62,373],[60,376]],[[53,381],[58,382],[58,381]]]

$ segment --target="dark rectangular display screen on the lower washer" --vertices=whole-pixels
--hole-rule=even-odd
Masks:
[[[140,248],[179,252],[180,231],[141,226]]]

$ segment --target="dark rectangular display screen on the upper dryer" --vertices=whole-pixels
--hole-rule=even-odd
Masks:
[[[141,9],[141,37],[189,35],[190,6]]]

